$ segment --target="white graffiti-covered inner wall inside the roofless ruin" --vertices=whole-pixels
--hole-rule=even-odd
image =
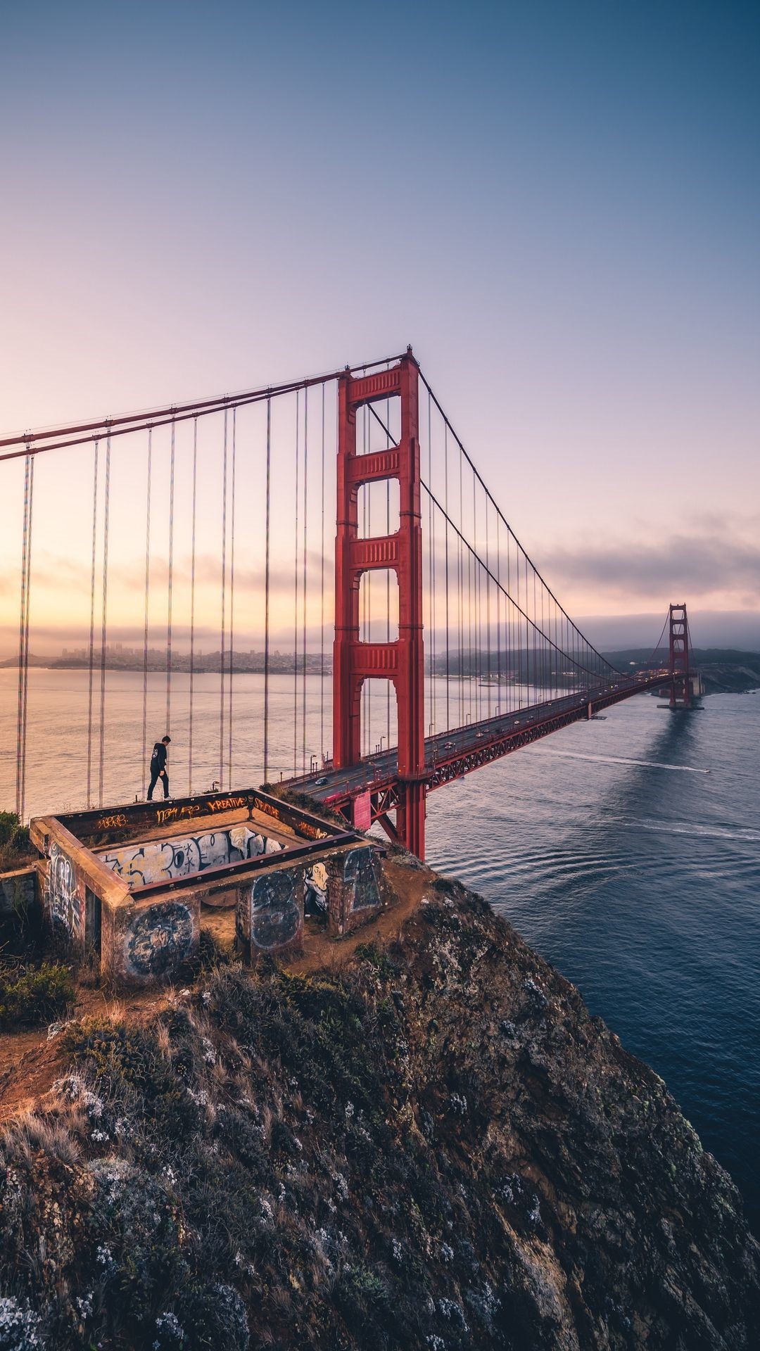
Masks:
[[[173,839],[145,840],[142,844],[119,844],[104,850],[99,858],[118,873],[130,888],[151,886],[176,877],[191,877],[210,867],[243,863],[260,854],[279,854],[284,848],[247,825],[210,831],[206,835],[176,835]]]

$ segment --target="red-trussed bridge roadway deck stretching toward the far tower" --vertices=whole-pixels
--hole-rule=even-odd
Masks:
[[[634,677],[621,676],[618,681],[596,685],[592,689],[576,690],[560,698],[533,704],[530,708],[513,709],[496,717],[427,736],[425,774],[421,778],[429,792],[441,788],[511,751],[530,746],[550,732],[588,719],[611,704],[619,704],[623,698],[644,690],[659,689],[669,684],[671,678],[667,669]],[[342,769],[329,765],[315,773],[288,780],[289,786],[308,793],[310,797],[337,811],[346,808],[352,798],[369,793],[372,820],[383,820],[385,825],[389,825],[387,812],[395,807],[394,788],[398,782],[395,747],[364,757],[357,765]]]

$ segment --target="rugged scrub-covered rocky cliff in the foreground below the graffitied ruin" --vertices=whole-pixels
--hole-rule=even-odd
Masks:
[[[757,1344],[757,1244],[665,1085],[415,881],[339,966],[212,962],[46,1043],[0,1150],[0,1348]]]

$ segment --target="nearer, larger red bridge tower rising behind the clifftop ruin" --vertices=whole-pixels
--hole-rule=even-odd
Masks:
[[[357,455],[356,415],[365,404],[398,396],[398,446]],[[395,478],[399,528],[358,538],[358,489]],[[361,642],[358,593],[372,569],[392,569],[399,584],[396,642]],[[419,501],[418,367],[411,349],[389,370],[338,381],[338,530],[335,536],[335,642],[333,648],[333,762],[361,759],[361,689],[389,680],[396,690],[399,750],[396,834],[425,858],[425,667],[422,640],[422,513]]]

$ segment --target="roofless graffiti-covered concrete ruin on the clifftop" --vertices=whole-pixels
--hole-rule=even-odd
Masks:
[[[365,836],[261,789],[41,816],[30,835],[49,925],[122,986],[181,973],[222,911],[250,963],[300,950],[307,897],[335,936],[383,905]]]

